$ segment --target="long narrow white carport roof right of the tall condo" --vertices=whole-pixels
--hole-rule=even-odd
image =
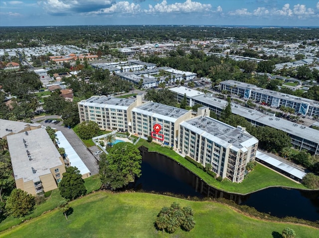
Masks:
[[[287,163],[284,163],[278,159],[275,159],[273,157],[270,157],[260,151],[257,151],[256,153],[256,158],[261,159],[277,168],[280,168],[281,170],[299,178],[299,179],[303,179],[303,177],[307,174],[293,166],[288,165]]]

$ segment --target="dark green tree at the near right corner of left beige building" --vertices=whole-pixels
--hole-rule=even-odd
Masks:
[[[68,167],[62,174],[62,180],[59,184],[60,195],[68,200],[74,200],[86,194],[84,180],[80,170],[77,167]]]

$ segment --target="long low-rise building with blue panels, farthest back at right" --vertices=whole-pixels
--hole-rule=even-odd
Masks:
[[[286,106],[295,109],[296,113],[309,116],[319,116],[319,102],[308,98],[301,98],[282,92],[257,87],[254,84],[226,80],[219,83],[220,90],[227,90],[233,94],[256,102],[264,102],[272,107]]]

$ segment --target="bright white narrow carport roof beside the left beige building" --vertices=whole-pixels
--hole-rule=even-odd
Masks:
[[[77,167],[82,175],[89,173],[90,170],[87,168],[78,154],[74,151],[73,147],[70,145],[61,131],[56,132],[56,137],[59,139],[57,141],[59,148],[64,148],[65,154],[69,158],[71,166]]]

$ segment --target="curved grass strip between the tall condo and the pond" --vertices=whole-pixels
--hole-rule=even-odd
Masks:
[[[186,168],[191,170],[193,173],[198,175],[200,178],[202,178],[209,185],[227,192],[246,194],[269,186],[285,186],[307,189],[304,185],[296,183],[261,164],[257,164],[255,169],[248,174],[248,176],[242,183],[232,183],[227,179],[224,179],[222,182],[218,182],[202,169],[197,168],[194,164],[166,147],[161,147],[159,144],[156,143],[149,143],[143,139],[141,139],[137,144],[137,147],[140,146],[149,148],[150,152],[156,151],[160,154],[166,155],[176,160],[177,162],[181,163]]]

